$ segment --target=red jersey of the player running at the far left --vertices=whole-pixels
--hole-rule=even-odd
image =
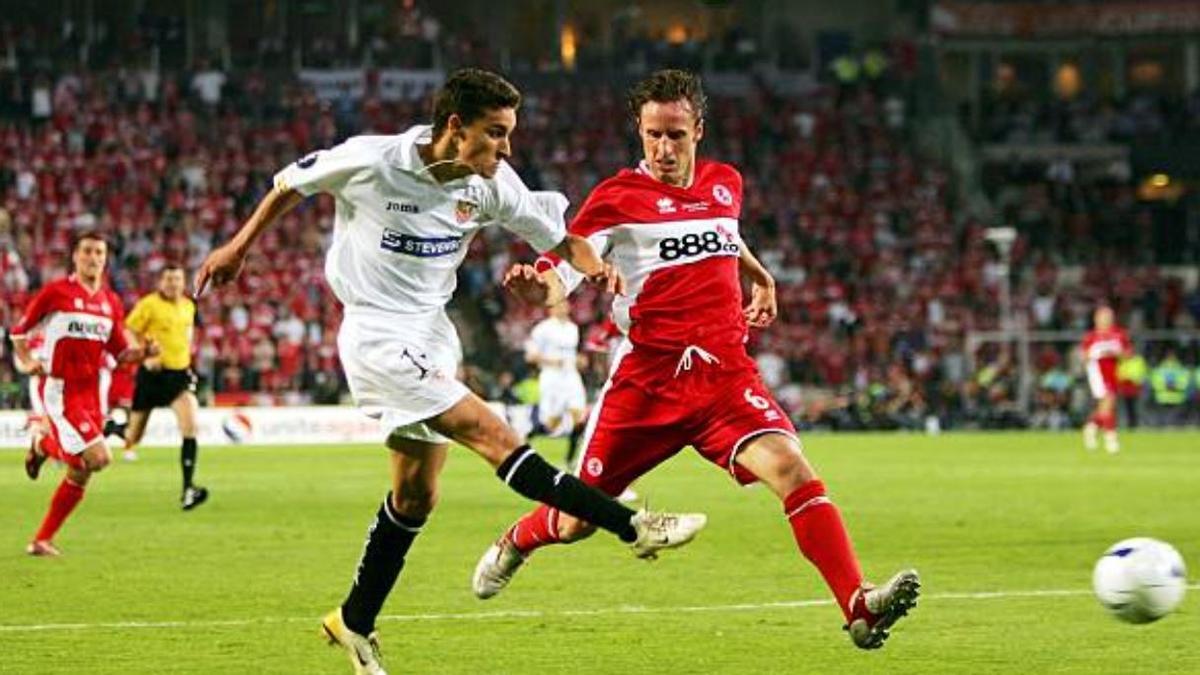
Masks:
[[[41,328],[48,375],[60,380],[100,378],[104,350],[119,354],[125,341],[125,309],[107,285],[95,293],[72,274],[47,283],[12,329],[14,338]]]

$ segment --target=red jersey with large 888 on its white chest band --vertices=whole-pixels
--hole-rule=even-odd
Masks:
[[[571,221],[625,275],[612,317],[642,353],[678,357],[689,346],[721,357],[744,354],[738,257],[742,174],[698,160],[690,187],[667,185],[640,166],[596,186]],[[539,269],[557,264],[539,261]],[[560,265],[569,286],[574,270]]]

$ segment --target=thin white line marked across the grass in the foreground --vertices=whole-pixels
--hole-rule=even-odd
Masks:
[[[1200,590],[1200,584],[1190,584],[1189,590]],[[1046,598],[1068,596],[1090,596],[1092,591],[1084,589],[1040,589],[1028,591],[978,591],[959,593],[931,593],[922,596],[923,601],[991,601],[1008,598]],[[506,609],[497,611],[467,611],[448,614],[382,614],[380,622],[402,621],[487,621],[492,619],[550,619],[565,616],[610,616],[629,614],[690,614],[719,611],[758,611],[773,609],[803,609],[809,607],[832,605],[832,599],[781,601],[772,603],[738,603],[709,605],[643,607],[617,605],[598,609]],[[10,623],[0,625],[0,633],[31,633],[46,631],[95,631],[95,629],[139,629],[139,628],[223,628],[252,626],[262,623],[310,623],[320,622],[319,616],[264,616],[260,619],[226,619],[200,621],[103,621],[97,623]]]

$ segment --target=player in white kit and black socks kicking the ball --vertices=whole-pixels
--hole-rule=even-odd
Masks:
[[[278,172],[250,220],[197,273],[197,294],[210,281],[234,280],[280,216],[317,192],[336,198],[325,277],[346,307],[338,356],[355,402],[383,422],[392,450],[392,489],[367,531],[349,596],[323,622],[360,674],[384,673],[376,616],[433,509],[451,440],[516,492],[598,524],[640,557],[683,545],[704,526],[701,514],[634,512],[552,467],[455,378],[460,342],[445,305],[481,227],[500,225],[553,251],[610,292],[624,285],[586,239],[566,234],[565,198],[535,197],[505,162],[520,102],[494,73],[452,73],[434,97],[432,126],[358,136]]]

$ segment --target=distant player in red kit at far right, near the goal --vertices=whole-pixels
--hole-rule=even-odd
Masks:
[[[1116,324],[1112,309],[1097,307],[1092,316],[1092,329],[1080,344],[1087,370],[1087,387],[1096,399],[1096,408],[1084,425],[1084,446],[1090,450],[1098,447],[1099,431],[1104,431],[1104,449],[1121,450],[1117,441],[1117,364],[1133,352],[1129,334]]]

